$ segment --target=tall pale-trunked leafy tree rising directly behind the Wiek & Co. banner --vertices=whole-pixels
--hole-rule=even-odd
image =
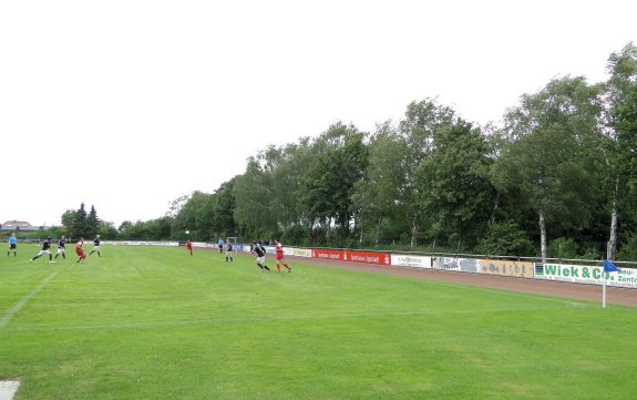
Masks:
[[[592,196],[600,187],[600,90],[584,78],[556,79],[505,115],[511,143],[495,164],[494,182],[518,189],[536,214],[543,259],[547,225],[582,228],[590,220]]]

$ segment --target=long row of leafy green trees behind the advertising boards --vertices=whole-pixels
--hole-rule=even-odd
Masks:
[[[100,228],[129,239],[188,229],[195,240],[637,259],[634,43],[607,71],[600,83],[555,78],[487,126],[435,99],[373,132],[336,123],[258,152],[243,174],[175,199],[163,217]]]

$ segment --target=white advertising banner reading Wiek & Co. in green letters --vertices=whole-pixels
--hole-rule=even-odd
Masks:
[[[545,264],[535,268],[535,278],[572,281],[576,284],[604,284],[604,267]],[[619,268],[618,273],[606,273],[606,285],[637,288],[637,269]]]

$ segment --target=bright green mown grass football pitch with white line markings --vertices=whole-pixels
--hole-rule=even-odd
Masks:
[[[90,248],[90,246],[88,246]],[[0,256],[16,399],[635,399],[637,309],[102,246]],[[271,257],[268,265],[275,266]],[[274,269],[274,268],[273,268]]]

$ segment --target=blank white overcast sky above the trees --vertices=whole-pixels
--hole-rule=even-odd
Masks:
[[[373,131],[436,98],[499,120],[552,78],[606,80],[637,1],[0,2],[0,224],[81,203],[117,227],[213,193],[269,144]]]

